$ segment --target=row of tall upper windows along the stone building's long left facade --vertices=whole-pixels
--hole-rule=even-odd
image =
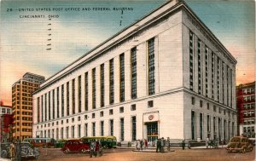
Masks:
[[[148,53],[148,95],[154,95],[154,38],[148,40],[147,42],[147,53]],[[117,102],[114,100],[114,66],[118,66],[114,64],[113,59],[109,60],[109,104],[113,104]],[[105,83],[104,83],[104,64],[100,66],[100,106],[105,106]],[[78,86],[75,88],[75,78],[73,78],[71,83],[71,88],[69,82],[66,83],[66,97],[64,98],[64,84],[61,87],[57,87],[57,89],[52,89],[48,93],[41,95],[37,98],[37,106],[38,106],[38,122],[44,122],[50,119],[55,119],[55,108],[56,108],[56,118],[64,117],[64,110],[66,110],[66,115],[75,114],[76,107],[78,107],[78,112],[82,112],[82,89],[81,89],[81,75],[77,79]],[[91,70],[91,76],[89,76],[88,72],[84,73],[84,111],[88,111],[89,109],[89,90],[88,90],[88,82],[89,77],[91,77],[91,109],[96,109],[96,68]],[[60,95],[61,88],[61,95]],[[55,90],[56,91],[56,101],[55,101]],[[71,90],[71,92],[70,92]],[[76,91],[78,90],[78,91]],[[71,95],[70,95],[71,93]],[[78,95],[75,95],[78,93]],[[71,96],[71,103],[70,101]],[[60,98],[61,97],[61,98]],[[78,97],[78,98],[76,98]],[[131,49],[131,98],[137,98],[137,48]],[[78,100],[78,105],[76,105],[76,99]],[[60,107],[61,101],[61,107]],[[66,101],[66,109],[64,109],[64,101]],[[119,102],[125,101],[125,54],[119,55]],[[70,106],[71,112],[70,113]],[[60,114],[61,112],[61,114]],[[52,115],[51,115],[52,114]]]

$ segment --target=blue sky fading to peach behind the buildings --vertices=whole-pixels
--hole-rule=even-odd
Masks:
[[[3,0],[1,2],[0,100],[10,103],[11,86],[24,73],[33,72],[49,78],[108,37],[165,2],[165,0]],[[255,79],[254,2],[213,0],[185,2],[238,61],[237,83],[253,81]],[[38,12],[36,11],[38,8],[50,8],[50,11]],[[53,11],[53,8],[62,10]],[[91,10],[70,10],[76,8]],[[93,8],[111,10],[94,11]],[[122,13],[120,10],[114,11],[113,8],[132,8],[132,10],[125,10]],[[12,11],[8,11],[9,9]],[[19,11],[19,9],[34,10]],[[35,14],[44,14],[44,18],[20,18]],[[59,17],[49,20],[49,15]],[[51,50],[46,50],[48,48]]]

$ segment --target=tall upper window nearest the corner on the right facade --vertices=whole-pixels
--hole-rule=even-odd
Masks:
[[[189,89],[194,85],[194,33],[189,32]]]

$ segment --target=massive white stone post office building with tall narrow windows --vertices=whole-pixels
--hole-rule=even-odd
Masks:
[[[184,2],[168,1],[33,93],[33,136],[230,139],[236,60]]]

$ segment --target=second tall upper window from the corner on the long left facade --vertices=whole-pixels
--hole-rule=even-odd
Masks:
[[[131,99],[137,98],[137,48],[131,49]]]

